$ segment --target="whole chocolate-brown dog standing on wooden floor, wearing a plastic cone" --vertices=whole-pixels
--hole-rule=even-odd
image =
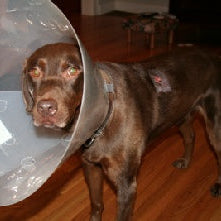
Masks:
[[[82,152],[91,220],[101,220],[103,174],[117,188],[117,220],[131,219],[142,153],[147,143],[172,125],[179,126],[185,143],[185,153],[174,165],[188,167],[194,147],[191,123],[198,110],[205,117],[218,157],[219,177],[211,191],[214,196],[221,195],[219,59],[191,49],[153,57],[145,63],[95,65],[111,76],[114,98],[103,136],[92,145],[90,140],[90,145],[86,142]],[[77,46],[60,43],[34,52],[23,73],[24,100],[34,124],[71,130],[81,105],[83,80]]]

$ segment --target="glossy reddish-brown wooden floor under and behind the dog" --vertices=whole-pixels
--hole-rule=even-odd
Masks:
[[[165,46],[149,50],[144,36],[139,34],[128,46],[126,33],[121,28],[122,19],[119,16],[73,16],[71,23],[96,61],[139,61],[170,50]],[[194,127],[196,149],[189,169],[178,170],[171,166],[183,151],[176,128],[159,138],[143,157],[134,220],[221,220],[221,199],[211,197],[209,192],[217,176],[215,156],[200,117],[194,121]],[[116,196],[107,183],[104,202],[103,220],[114,220]],[[31,197],[9,207],[0,207],[0,221],[86,221],[89,212],[82,168],[78,157],[73,156]]]

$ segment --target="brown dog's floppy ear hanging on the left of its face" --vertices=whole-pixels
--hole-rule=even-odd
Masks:
[[[30,80],[28,79],[27,73],[27,59],[23,65],[23,72],[22,72],[22,93],[23,93],[23,100],[26,105],[26,111],[31,112],[34,101],[33,101],[33,87],[31,85]]]

